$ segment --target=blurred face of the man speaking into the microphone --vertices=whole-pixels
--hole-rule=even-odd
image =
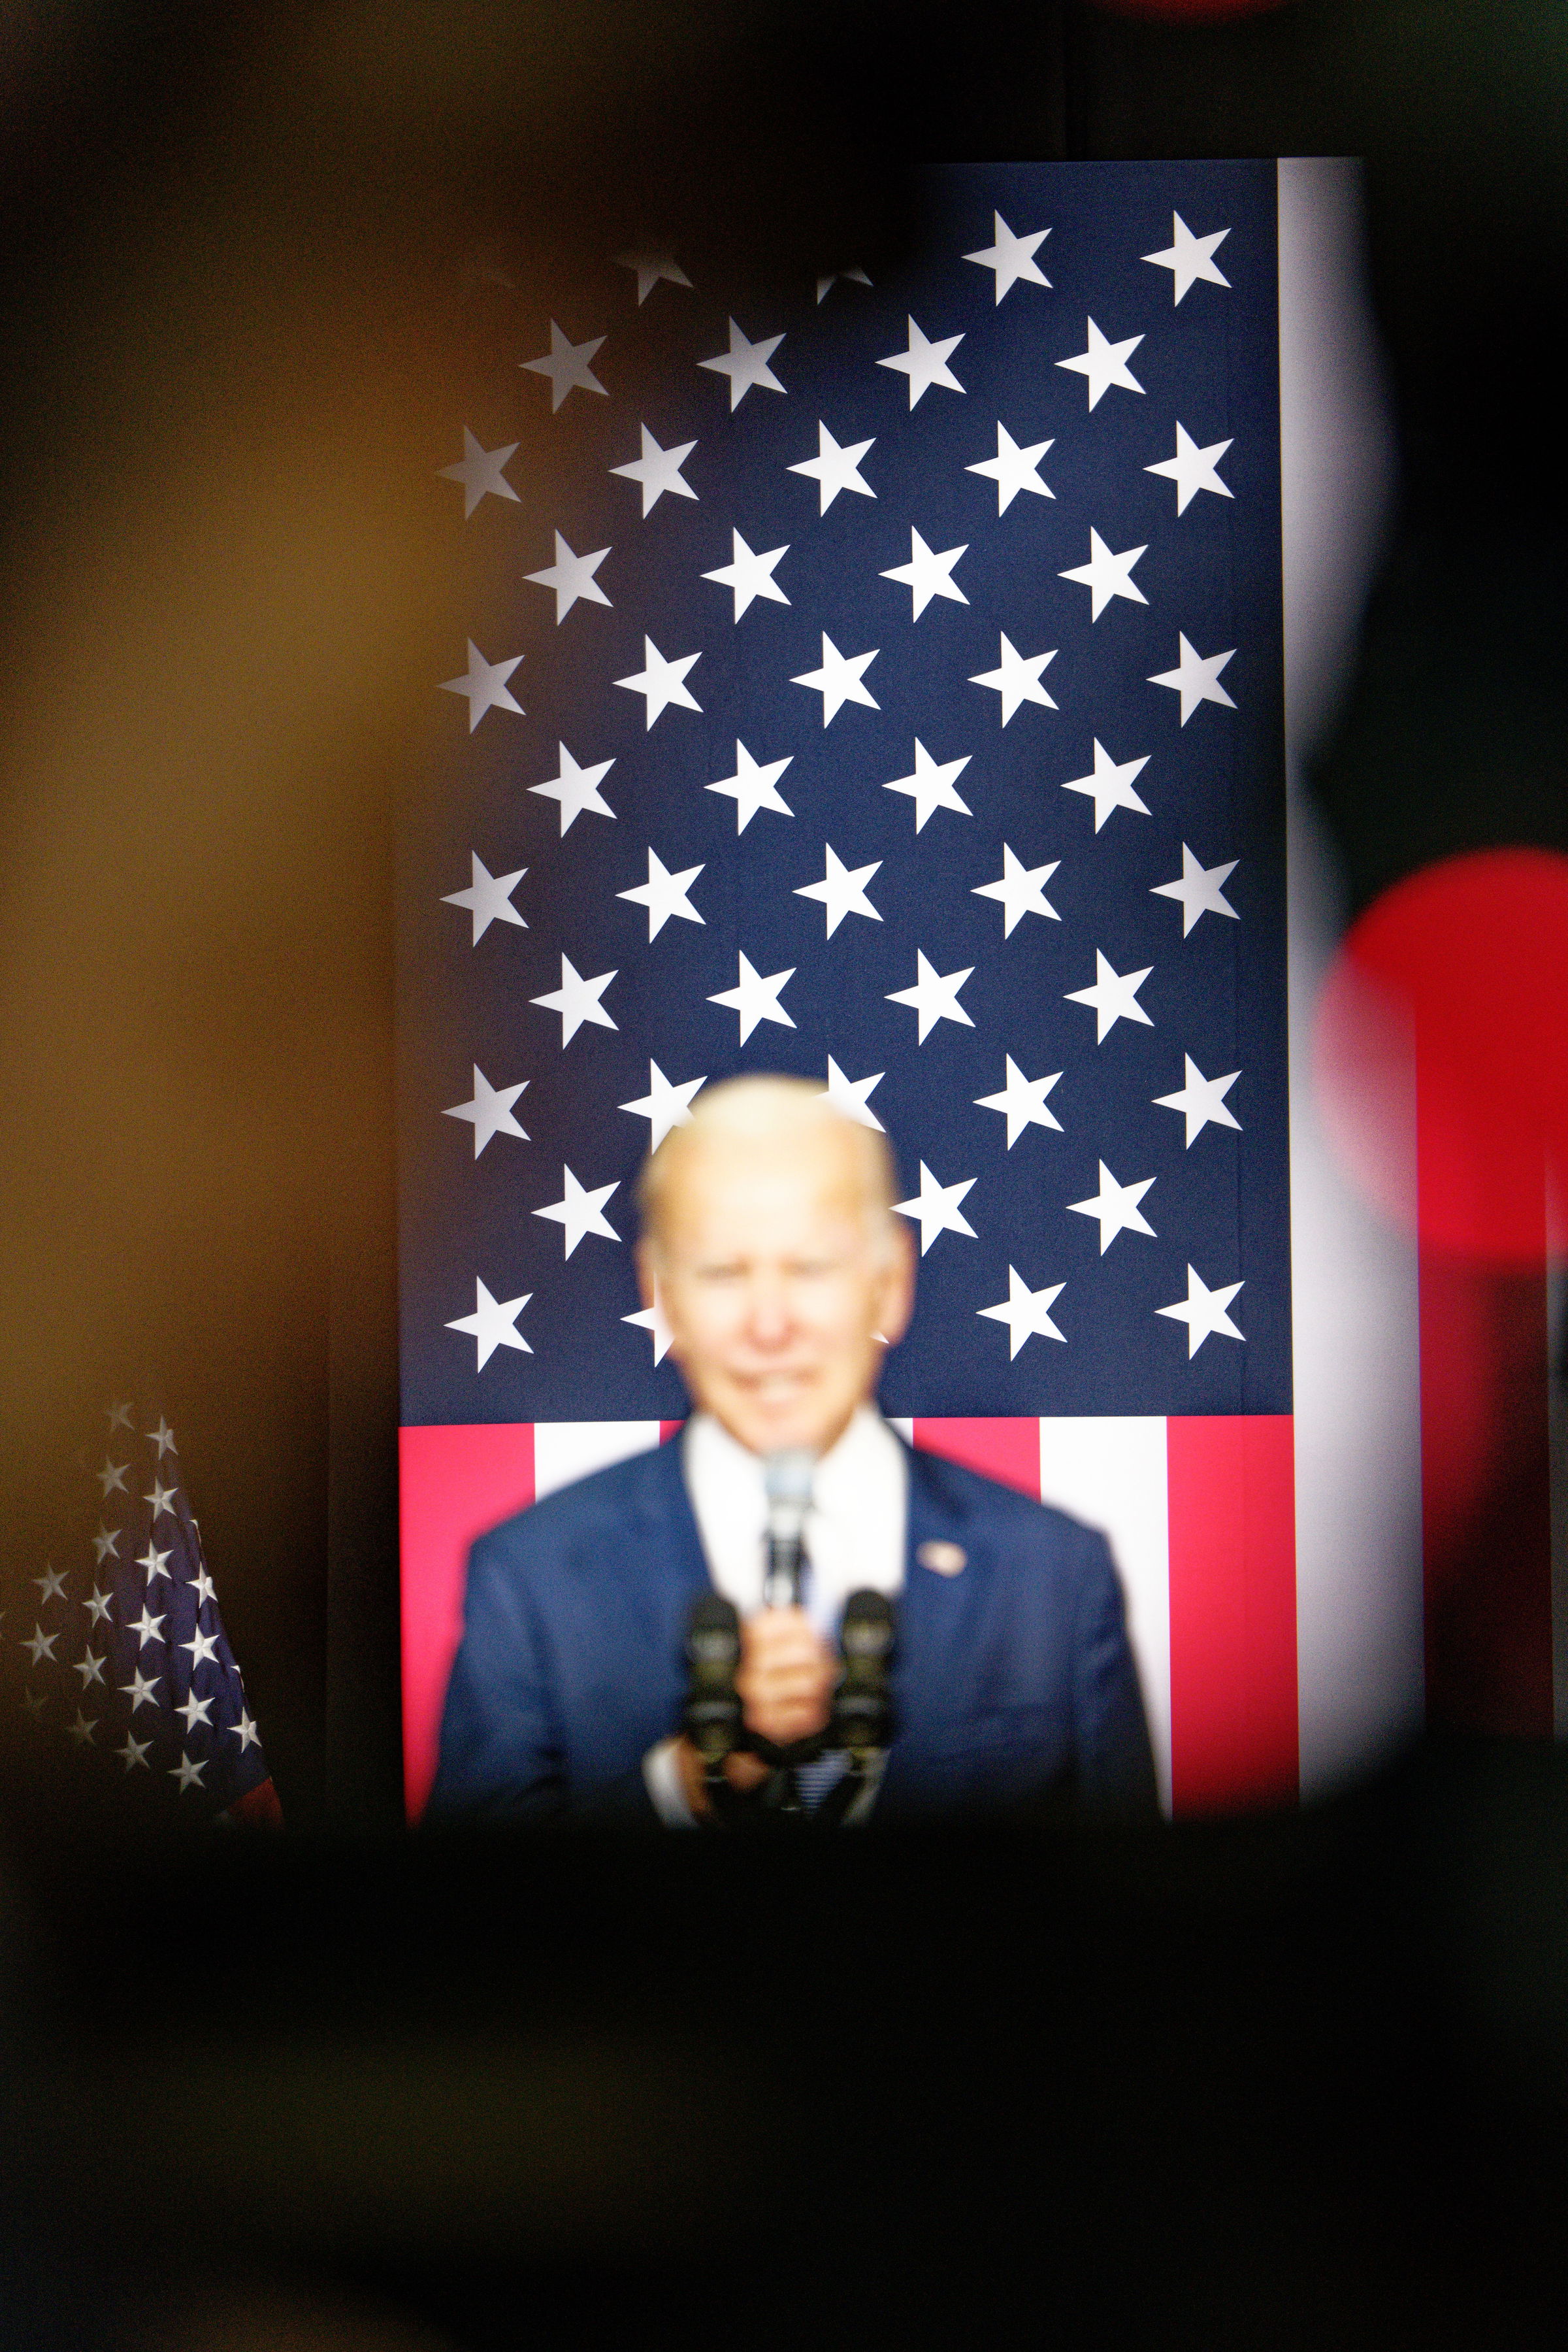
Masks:
[[[867,1200],[851,1129],[703,1136],[665,1181],[644,1298],[698,1406],[752,1454],[825,1451],[903,1336],[910,1237]]]

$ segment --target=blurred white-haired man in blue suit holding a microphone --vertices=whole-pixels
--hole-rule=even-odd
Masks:
[[[475,1543],[433,1813],[703,1823],[679,1733],[691,1604],[736,1604],[745,1726],[788,1748],[830,1719],[837,1621],[863,1588],[898,1611],[896,1736],[851,1818],[1152,1813],[1105,1538],[912,1454],[872,1404],[914,1296],[882,1131],[802,1080],[731,1080],[663,1138],[642,1211],[644,1301],[696,1411],[679,1442]],[[816,1456],[790,1609],[764,1604],[762,1463],[780,1449]],[[806,1769],[809,1802],[835,1769]],[[766,1764],[724,1771],[743,1797]]]

